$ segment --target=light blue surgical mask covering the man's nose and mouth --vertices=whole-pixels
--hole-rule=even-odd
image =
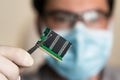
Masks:
[[[112,48],[112,29],[88,29],[77,23],[71,31],[56,32],[72,43],[63,62],[47,57],[49,65],[58,74],[68,80],[87,80],[105,67]]]

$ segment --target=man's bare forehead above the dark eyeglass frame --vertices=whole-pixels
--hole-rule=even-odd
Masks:
[[[71,12],[84,12],[100,9],[108,11],[106,0],[48,0],[48,10],[67,10]]]

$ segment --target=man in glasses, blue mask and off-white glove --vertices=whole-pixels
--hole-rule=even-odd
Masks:
[[[72,43],[62,63],[46,57],[41,80],[99,80],[112,47],[113,4],[113,0],[34,0],[39,33],[49,27]],[[21,66],[32,64],[26,51],[0,47],[1,80],[19,79]]]

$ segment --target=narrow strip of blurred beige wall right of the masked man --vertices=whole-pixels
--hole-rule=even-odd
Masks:
[[[115,12],[115,40],[114,47],[112,51],[112,56],[109,61],[109,65],[119,66],[120,67],[120,0],[116,0]]]

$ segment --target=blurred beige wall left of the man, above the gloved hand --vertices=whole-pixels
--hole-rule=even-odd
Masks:
[[[0,0],[0,45],[22,46],[21,33],[34,21],[30,1]]]

